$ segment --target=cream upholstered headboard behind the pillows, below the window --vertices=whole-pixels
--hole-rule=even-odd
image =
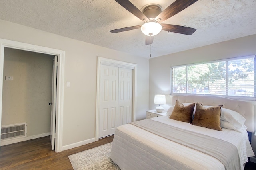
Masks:
[[[244,125],[247,126],[248,132],[254,132],[254,106],[251,102],[233,100],[218,96],[172,96],[172,105],[175,105],[176,100],[181,103],[196,103],[199,102],[203,105],[218,106],[223,104],[223,108],[234,110],[240,113],[246,121]]]

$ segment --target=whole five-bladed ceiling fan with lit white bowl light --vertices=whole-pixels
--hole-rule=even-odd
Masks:
[[[194,4],[198,0],[176,0],[165,10],[162,11],[161,6],[158,4],[149,4],[140,11],[129,0],[115,0],[118,4],[126,10],[134,14],[140,20],[144,21],[143,25],[132,27],[125,27],[120,29],[111,30],[111,33],[119,33],[140,28],[142,33],[146,35],[146,45],[152,44],[154,35],[158,34],[161,30],[180,33],[185,35],[192,35],[196,31],[195,28],[190,28],[181,25],[171,25],[162,23],[162,21],[178,14],[188,6]]]

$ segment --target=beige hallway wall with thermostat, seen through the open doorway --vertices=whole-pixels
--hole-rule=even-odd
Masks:
[[[27,122],[28,137],[50,133],[53,59],[53,55],[4,50],[2,125]]]

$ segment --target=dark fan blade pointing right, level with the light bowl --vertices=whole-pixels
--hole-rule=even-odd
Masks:
[[[166,24],[166,23],[161,23],[162,25],[162,30],[164,31],[169,31],[169,32],[174,32],[174,33],[180,33],[180,34],[185,34],[185,35],[191,35],[196,31],[195,28],[190,28],[190,27],[184,27],[180,25],[171,25],[171,24]]]

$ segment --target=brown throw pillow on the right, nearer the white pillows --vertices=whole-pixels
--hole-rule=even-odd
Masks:
[[[204,105],[196,103],[196,112],[191,124],[222,131],[220,127],[220,114],[222,106],[223,105],[205,108]]]

